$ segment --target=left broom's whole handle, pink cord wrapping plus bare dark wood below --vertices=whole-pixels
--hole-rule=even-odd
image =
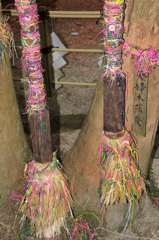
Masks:
[[[29,97],[27,102],[33,157],[36,162],[52,161],[49,111],[45,109],[45,88],[40,52],[40,33],[35,0],[15,0],[22,35],[23,68],[28,75]]]

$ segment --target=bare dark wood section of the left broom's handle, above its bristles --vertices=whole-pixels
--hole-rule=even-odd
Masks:
[[[34,160],[40,163],[52,161],[49,111],[44,110],[41,117],[36,113],[32,114],[30,128]]]

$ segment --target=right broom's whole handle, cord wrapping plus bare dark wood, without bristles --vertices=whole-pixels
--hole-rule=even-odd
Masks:
[[[124,0],[105,0],[103,73],[103,130],[119,133],[125,125],[126,77],[122,71]]]

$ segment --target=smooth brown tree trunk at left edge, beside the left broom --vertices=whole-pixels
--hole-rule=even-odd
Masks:
[[[3,21],[1,9],[0,1],[0,20]],[[2,62],[3,68],[0,69],[0,204],[6,201],[6,198],[11,195],[11,190],[20,180],[23,163],[32,159],[20,118],[7,53]],[[0,239],[4,239],[2,235]]]

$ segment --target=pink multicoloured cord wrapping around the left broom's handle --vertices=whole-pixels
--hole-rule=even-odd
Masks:
[[[40,34],[35,0],[15,0],[21,25],[23,68],[28,73],[28,111],[42,111],[45,106],[43,69],[41,65]]]

